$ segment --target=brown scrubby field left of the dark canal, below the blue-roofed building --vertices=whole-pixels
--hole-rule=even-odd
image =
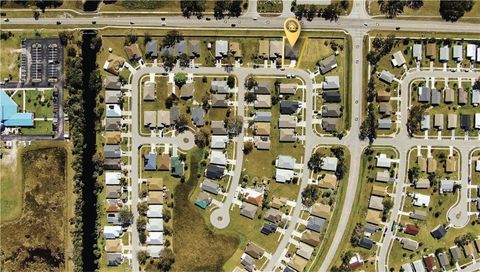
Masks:
[[[64,271],[67,153],[63,148],[26,150],[21,162],[23,212],[0,226],[0,266],[4,271]]]

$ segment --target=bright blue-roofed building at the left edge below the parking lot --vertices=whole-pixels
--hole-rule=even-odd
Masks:
[[[33,113],[17,112],[18,105],[5,91],[0,91],[0,128],[33,127]]]

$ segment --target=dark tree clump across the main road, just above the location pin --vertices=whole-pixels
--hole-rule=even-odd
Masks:
[[[295,2],[294,2],[295,3]],[[303,17],[311,21],[315,17],[323,18],[325,20],[337,21],[342,11],[347,10],[349,7],[347,0],[342,0],[339,3],[332,3],[325,8],[318,8],[315,5],[296,5],[292,4],[292,11],[298,19]]]

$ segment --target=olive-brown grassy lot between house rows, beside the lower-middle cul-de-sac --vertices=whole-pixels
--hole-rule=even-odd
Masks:
[[[191,153],[190,178],[175,188],[173,209],[174,271],[220,271],[238,247],[236,237],[214,234],[205,224],[198,209],[190,202],[192,190],[202,172],[203,150]]]

